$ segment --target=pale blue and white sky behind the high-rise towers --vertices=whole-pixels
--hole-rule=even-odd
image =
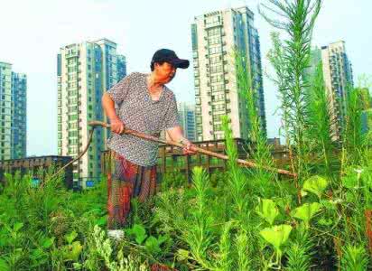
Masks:
[[[57,53],[75,42],[107,38],[126,55],[127,71],[149,72],[153,52],[169,48],[192,60],[191,23],[212,11],[247,5],[255,14],[264,71],[274,31],[257,11],[266,0],[0,0],[0,61],[27,75],[27,155],[57,154]],[[371,0],[325,0],[312,44],[346,42],[354,81],[372,74]],[[192,69],[169,84],[178,101],[194,101]],[[269,137],[279,135],[277,90],[264,77]]]

